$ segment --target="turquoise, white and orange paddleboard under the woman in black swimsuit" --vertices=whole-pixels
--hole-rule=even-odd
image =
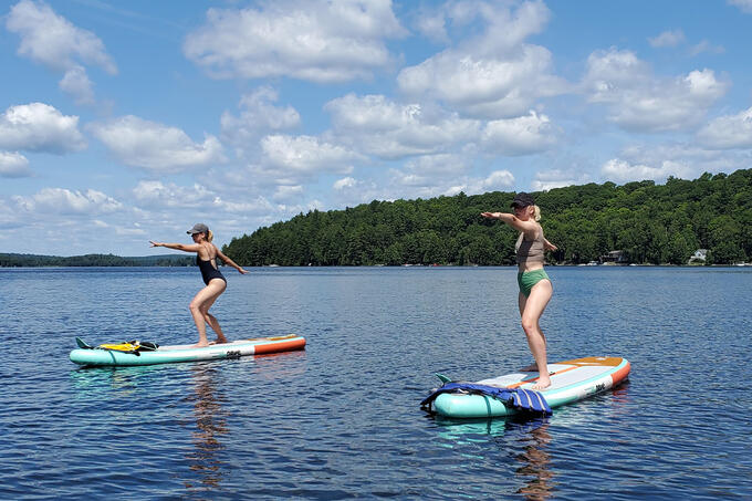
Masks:
[[[87,366],[155,365],[175,362],[216,361],[248,355],[261,355],[265,353],[290,352],[293,349],[303,349],[305,347],[305,337],[295,334],[278,337],[239,340],[231,343],[212,344],[200,348],[194,347],[192,345],[174,345],[159,346],[154,351],[138,352],[88,346],[79,338],[76,338],[76,342],[80,347],[71,352],[71,362]]]

